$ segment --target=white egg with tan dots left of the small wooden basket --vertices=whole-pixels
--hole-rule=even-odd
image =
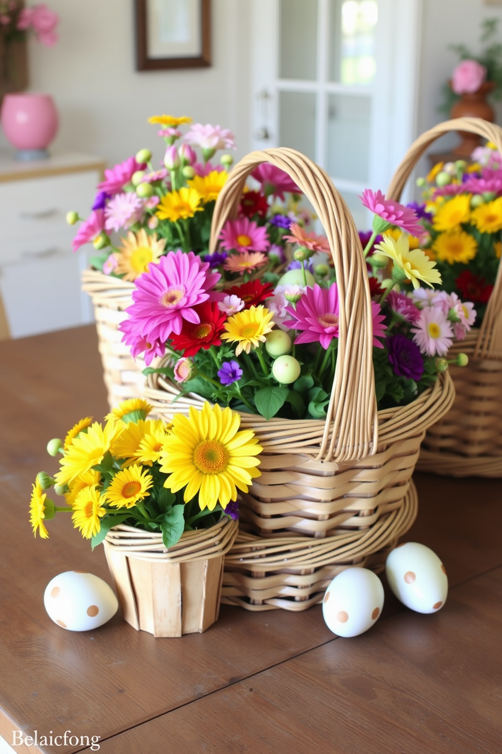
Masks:
[[[58,626],[68,631],[89,631],[113,618],[118,602],[102,578],[82,571],[65,571],[45,587],[44,606]]]

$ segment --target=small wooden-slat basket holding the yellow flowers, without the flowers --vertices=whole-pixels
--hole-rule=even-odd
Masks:
[[[115,526],[104,546],[124,620],[154,636],[202,633],[218,621],[224,555],[236,521],[184,532],[166,550],[162,535]]]

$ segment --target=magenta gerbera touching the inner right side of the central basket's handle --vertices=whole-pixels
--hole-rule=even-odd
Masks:
[[[338,338],[338,287],[333,283],[329,288],[321,288],[316,283],[303,293],[297,308],[289,308],[294,319],[284,325],[291,329],[302,330],[295,343],[321,343],[328,348],[333,338]]]

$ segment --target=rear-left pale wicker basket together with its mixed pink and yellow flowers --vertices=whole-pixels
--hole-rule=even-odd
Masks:
[[[217,254],[208,254],[214,202],[233,162],[228,154],[219,164],[211,160],[218,150],[235,149],[233,134],[220,126],[191,124],[187,117],[160,115],[150,121],[160,125],[166,142],[163,164],[154,166],[151,151],[141,149],[105,170],[87,219],[75,212],[67,216],[71,224],[81,222],[74,250],[92,243],[99,252],[90,259],[92,269],[84,272],[83,280],[93,297],[111,406],[124,397],[141,396],[141,367],[120,345],[117,324],[130,304],[133,282],[152,262],[181,250],[211,268],[221,265],[230,283],[244,272],[265,279],[270,274],[274,280],[274,271],[286,261],[282,237],[291,222],[310,222],[309,213],[299,207],[297,185],[281,171],[259,167],[254,185],[239,197],[226,244]]]

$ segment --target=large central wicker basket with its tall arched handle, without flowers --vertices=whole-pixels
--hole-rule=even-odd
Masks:
[[[263,161],[275,164],[297,183],[330,241],[342,302],[339,357],[326,421],[266,421],[260,415],[242,414],[242,428],[253,429],[263,446],[262,474],[250,492],[242,495],[240,505],[242,528],[255,538],[252,544],[246,539],[239,542],[237,550],[231,550],[224,583],[226,599],[239,602],[241,590],[239,604],[251,608],[253,600],[273,608],[278,606],[273,602],[275,596],[292,594],[291,590],[281,592],[281,588],[290,587],[292,575],[300,571],[300,575],[309,575],[308,588],[306,581],[301,581],[297,586],[305,589],[300,598],[288,596],[280,602],[281,607],[291,605],[290,609],[298,610],[321,600],[326,574],[354,562],[370,562],[375,569],[383,565],[386,548],[397,543],[416,515],[411,477],[421,440],[426,429],[448,411],[455,393],[446,372],[408,406],[377,413],[370,292],[357,230],[329,177],[299,152],[253,152],[234,167],[214,208],[210,249],[215,249],[227,218],[236,216],[248,174]],[[156,415],[169,420],[175,412],[187,412],[189,406],[202,406],[203,399],[195,394],[172,402],[178,392],[160,375],[148,376],[145,397]],[[301,553],[300,566],[291,571],[288,551],[292,541]],[[253,568],[247,575],[236,571],[242,547],[258,553],[251,557],[251,565],[263,558],[260,562],[267,567]],[[269,569],[278,551],[281,566]],[[246,556],[245,561],[249,559]],[[285,570],[284,563],[288,566]],[[318,563],[324,568],[321,581],[312,576]],[[275,596],[251,596],[249,579],[257,578],[261,589],[269,571],[273,572]],[[227,587],[231,587],[231,595]]]

